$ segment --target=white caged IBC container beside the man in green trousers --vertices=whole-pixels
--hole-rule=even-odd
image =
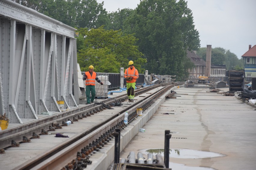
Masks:
[[[98,76],[98,78],[102,81],[103,85],[95,81],[95,98],[106,99],[108,97],[108,76]]]

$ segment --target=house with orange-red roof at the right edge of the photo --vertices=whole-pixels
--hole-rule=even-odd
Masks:
[[[251,47],[249,50],[242,55],[244,67],[245,67],[245,78],[256,77],[256,45]]]

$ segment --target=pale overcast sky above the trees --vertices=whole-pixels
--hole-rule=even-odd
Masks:
[[[97,1],[101,3],[103,0]],[[187,1],[199,31],[201,47],[222,47],[240,59],[249,45],[256,45],[255,0]],[[139,3],[140,0],[105,0],[103,7],[112,12],[118,8],[135,9]]]

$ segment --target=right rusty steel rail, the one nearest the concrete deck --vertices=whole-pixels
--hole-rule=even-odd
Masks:
[[[177,85],[177,84],[175,84]],[[179,84],[181,85],[181,84]],[[97,139],[106,131],[110,130],[112,127],[117,125],[119,122],[123,121],[125,111],[134,112],[138,106],[145,105],[154,98],[158,98],[160,95],[163,95],[174,85],[166,86],[165,88],[156,91],[155,93],[150,94],[145,99],[134,103],[132,106],[123,109],[119,113],[114,114],[109,117],[107,120],[99,122],[93,128],[86,130],[83,134],[78,135],[75,139],[70,139],[66,143],[62,143],[59,146],[47,151],[44,155],[40,155],[36,159],[26,162],[26,165],[17,167],[17,169],[60,169],[67,163],[71,162],[76,157],[78,151],[81,151],[81,148],[91,143],[93,140]],[[72,141],[71,141],[72,140]],[[72,143],[72,144],[71,144]],[[66,154],[69,153],[69,154]]]

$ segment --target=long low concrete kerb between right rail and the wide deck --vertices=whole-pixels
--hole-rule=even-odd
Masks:
[[[180,86],[181,87],[181,86]],[[139,133],[139,129],[142,128],[148,120],[153,116],[153,114],[158,110],[160,105],[165,102],[165,96],[170,94],[171,90],[175,90],[177,86],[171,88],[161,98],[157,99],[154,104],[152,104],[147,110],[143,111],[142,116],[139,116],[136,120],[131,122],[124,130],[121,131],[120,136],[120,152],[123,151],[125,146]],[[106,148],[105,148],[106,147]],[[103,149],[104,148],[104,149]],[[107,145],[105,145],[100,151],[97,161],[93,162],[93,165],[87,166],[90,170],[102,170],[107,169],[106,165],[110,165],[114,161],[114,139],[111,140]],[[93,160],[92,156],[90,159]]]

